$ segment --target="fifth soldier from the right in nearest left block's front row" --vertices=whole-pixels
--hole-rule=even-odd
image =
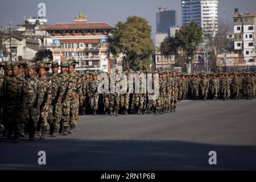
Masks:
[[[24,106],[25,121],[28,124],[29,140],[34,140],[35,129],[38,124],[40,116],[40,103],[43,101],[43,94],[39,88],[40,81],[35,77],[35,69],[37,68],[35,63],[28,63],[27,65],[27,88]]]

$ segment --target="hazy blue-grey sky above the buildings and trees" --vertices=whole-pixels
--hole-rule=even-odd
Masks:
[[[48,24],[73,22],[75,15],[86,14],[88,22],[108,22],[115,25],[127,16],[146,18],[152,26],[152,37],[156,30],[156,10],[168,7],[176,10],[177,25],[181,26],[181,0],[0,0],[0,26],[22,24],[23,17],[38,16],[38,3],[46,3]],[[234,8],[239,11],[256,11],[256,0],[218,0],[218,19],[223,19],[225,4],[226,22],[232,23]]]

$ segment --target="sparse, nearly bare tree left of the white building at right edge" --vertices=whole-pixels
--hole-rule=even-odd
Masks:
[[[218,23],[218,31],[215,32],[215,26],[212,29],[204,32],[206,46],[210,49],[210,55],[212,57],[212,64],[214,73],[217,72],[217,56],[220,52],[220,48],[228,46],[228,32],[230,30],[230,24],[220,22]],[[214,35],[216,33],[216,35]]]

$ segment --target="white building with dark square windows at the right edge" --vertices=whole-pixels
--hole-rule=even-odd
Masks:
[[[241,52],[247,66],[255,68],[256,13],[239,13],[235,9],[233,20],[234,49]]]

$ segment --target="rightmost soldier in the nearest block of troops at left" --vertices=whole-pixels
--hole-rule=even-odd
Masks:
[[[69,81],[71,82],[71,88],[69,89],[68,95],[70,97],[70,127],[69,134],[72,134],[75,130],[77,120],[79,117],[79,106],[82,105],[82,83],[79,73],[75,72],[75,61],[69,61],[68,72]]]

